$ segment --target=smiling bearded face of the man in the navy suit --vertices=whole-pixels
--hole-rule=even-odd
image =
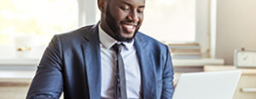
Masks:
[[[131,41],[143,23],[144,5],[145,0],[107,0],[101,9],[102,29],[117,41]]]

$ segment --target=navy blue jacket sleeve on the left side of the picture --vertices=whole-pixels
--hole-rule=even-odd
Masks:
[[[44,52],[26,99],[56,99],[63,90],[62,55],[59,36],[54,36]]]

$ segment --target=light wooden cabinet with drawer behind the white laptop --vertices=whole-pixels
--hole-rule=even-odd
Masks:
[[[235,70],[235,66],[204,66],[204,71]],[[240,69],[240,68],[239,68]],[[234,99],[256,99],[256,69],[240,69],[241,79],[236,87]],[[221,90],[221,89],[220,89]]]

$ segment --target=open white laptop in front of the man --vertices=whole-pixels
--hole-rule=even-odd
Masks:
[[[232,99],[241,70],[181,74],[172,99]]]

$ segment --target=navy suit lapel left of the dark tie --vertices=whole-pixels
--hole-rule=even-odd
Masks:
[[[82,44],[90,99],[101,98],[101,51],[97,28],[95,25],[85,34],[86,41]]]

